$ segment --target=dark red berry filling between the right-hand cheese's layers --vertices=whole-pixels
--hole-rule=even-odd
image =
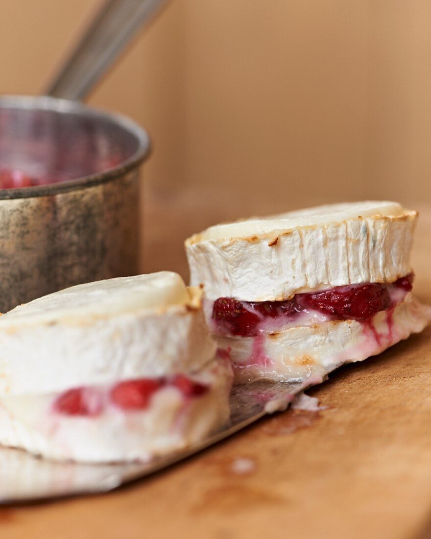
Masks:
[[[413,273],[391,284],[364,283],[296,294],[286,301],[246,302],[219,298],[212,308],[213,330],[222,335],[254,337],[293,325],[330,320],[366,321],[404,300]]]

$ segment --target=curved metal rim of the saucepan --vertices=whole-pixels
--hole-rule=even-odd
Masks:
[[[119,113],[106,112],[97,107],[89,107],[79,101],[54,98],[48,95],[2,95],[0,108],[20,108],[33,110],[52,110],[58,113],[80,114],[91,118],[108,119],[135,136],[138,146],[133,155],[125,161],[105,172],[98,172],[80,178],[69,179],[65,182],[31,187],[0,189],[0,201],[15,198],[33,198],[58,195],[60,193],[92,187],[109,182],[137,168],[150,153],[150,138],[140,125],[127,116]]]

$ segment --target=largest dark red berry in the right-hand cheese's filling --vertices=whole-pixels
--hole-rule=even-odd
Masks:
[[[302,305],[339,319],[365,320],[391,306],[386,287],[377,283],[300,295]]]

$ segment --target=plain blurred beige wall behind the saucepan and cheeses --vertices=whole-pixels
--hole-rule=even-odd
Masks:
[[[97,5],[2,0],[0,92],[42,92]],[[428,0],[173,0],[89,99],[154,142],[145,269],[184,273],[176,231],[241,217],[239,197],[431,202],[430,55]]]

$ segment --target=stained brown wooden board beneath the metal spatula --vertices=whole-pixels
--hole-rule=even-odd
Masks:
[[[414,266],[431,303],[429,225],[426,211]],[[112,494],[0,509],[0,537],[431,537],[431,328],[309,394],[326,409],[264,419]]]

